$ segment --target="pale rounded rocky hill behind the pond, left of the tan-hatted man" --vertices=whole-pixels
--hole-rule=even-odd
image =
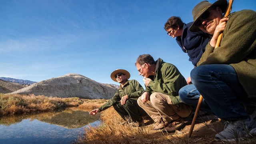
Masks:
[[[34,83],[10,94],[35,94],[60,98],[79,97],[86,99],[110,99],[116,86],[101,84],[80,74],[66,74]]]

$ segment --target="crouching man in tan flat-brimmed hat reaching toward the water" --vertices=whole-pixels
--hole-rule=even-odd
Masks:
[[[138,106],[137,100],[144,91],[144,88],[138,81],[128,80],[130,73],[127,70],[117,69],[110,74],[110,77],[115,82],[120,83],[117,92],[108,102],[100,108],[92,110],[89,114],[95,115],[113,106],[116,112],[118,112],[128,124],[134,125],[137,123],[138,126],[142,126],[144,124],[142,116],[146,116],[146,112]]]

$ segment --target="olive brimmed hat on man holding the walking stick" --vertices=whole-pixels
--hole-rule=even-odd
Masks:
[[[200,29],[195,26],[198,18],[200,18],[202,16],[202,14],[204,14],[204,12],[206,12],[209,8],[216,7],[216,6],[218,6],[222,10],[222,13],[224,13],[224,12],[226,12],[228,2],[227,2],[227,0],[217,0],[213,4],[211,4],[210,2],[208,2],[206,0],[199,2],[192,10],[192,16],[193,16],[194,22],[190,26],[189,31],[190,32],[200,31]]]

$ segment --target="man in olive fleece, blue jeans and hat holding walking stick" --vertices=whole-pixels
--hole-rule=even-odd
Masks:
[[[190,74],[194,88],[182,88],[180,98],[186,104],[195,105],[202,94],[204,108],[208,106],[216,116],[227,121],[215,138],[237,140],[249,135],[248,132],[256,134],[256,122],[249,115],[253,113],[244,108],[256,106],[256,12],[241,10],[222,18],[227,5],[226,0],[218,0],[213,4],[203,1],[194,7],[194,23],[189,30],[202,30],[211,34],[212,39],[198,67]],[[221,32],[220,46],[214,49]]]

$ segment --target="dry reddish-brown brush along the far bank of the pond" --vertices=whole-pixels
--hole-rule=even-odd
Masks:
[[[66,107],[79,106],[79,98],[57,98],[35,95],[0,94],[0,116],[52,112]]]

